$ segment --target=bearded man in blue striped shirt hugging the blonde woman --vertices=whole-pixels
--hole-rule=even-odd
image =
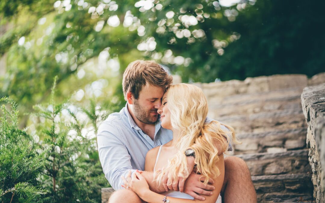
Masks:
[[[110,116],[98,129],[99,159],[105,177],[116,190],[110,203],[143,201],[132,191],[122,189],[122,177],[129,172],[144,170],[145,157],[153,147],[169,142],[172,132],[160,125],[158,108],[172,77],[154,61],[136,60],[128,65],[123,74],[123,94],[127,101],[119,113]],[[193,169],[194,158],[188,157],[188,167]],[[225,179],[221,195],[224,202],[256,202],[256,194],[246,163],[236,157],[225,159]],[[163,185],[153,182],[153,172],[143,171],[152,191],[162,193],[176,190],[204,200],[214,188],[204,185],[200,175],[191,173],[186,180]]]

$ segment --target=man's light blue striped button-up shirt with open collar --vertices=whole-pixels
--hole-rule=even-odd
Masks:
[[[211,122],[207,118],[205,122]],[[223,125],[221,125],[223,126]],[[144,170],[147,152],[173,139],[173,132],[155,124],[155,136],[151,138],[133,121],[127,104],[119,113],[112,113],[98,128],[97,143],[99,160],[106,179],[114,190],[122,189],[122,176],[129,170]],[[231,150],[231,145],[229,145]]]

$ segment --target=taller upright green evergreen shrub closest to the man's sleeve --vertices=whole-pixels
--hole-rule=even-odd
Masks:
[[[45,174],[42,183],[49,191],[45,202],[100,202],[100,188],[109,186],[98,160],[97,124],[107,117],[91,102],[89,108],[73,110],[69,102],[56,103],[56,78],[51,103],[35,106],[36,115],[45,119],[42,150],[46,151]],[[96,109],[97,108],[97,109]],[[85,112],[87,120],[77,114]],[[86,118],[86,117],[85,117]]]

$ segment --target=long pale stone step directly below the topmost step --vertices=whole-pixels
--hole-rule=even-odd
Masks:
[[[245,102],[213,103],[209,109],[215,117],[236,114],[252,114],[274,110],[301,108],[300,95],[281,95],[280,97],[264,98],[263,96]]]

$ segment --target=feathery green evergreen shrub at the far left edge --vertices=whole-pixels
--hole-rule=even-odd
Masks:
[[[41,202],[46,194],[38,185],[37,177],[42,172],[45,153],[35,151],[35,143],[28,133],[18,129],[17,104],[4,97],[0,102],[0,201]]]

